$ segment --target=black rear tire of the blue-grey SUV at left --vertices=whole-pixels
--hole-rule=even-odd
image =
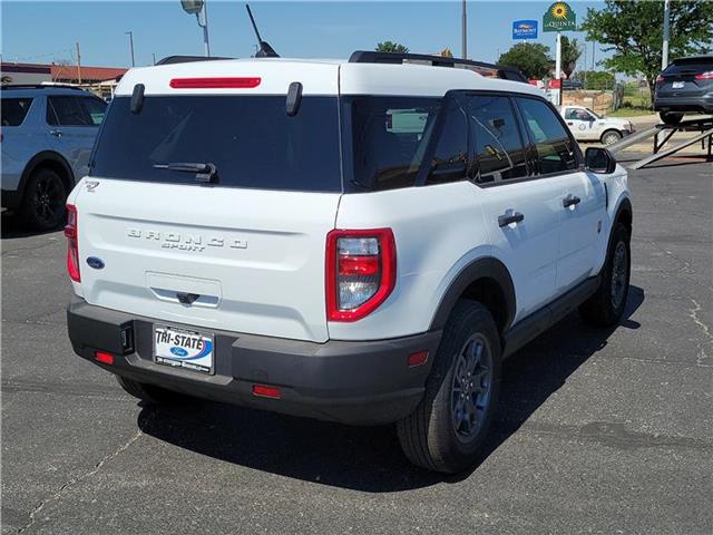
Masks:
[[[22,193],[20,217],[36,231],[51,231],[65,222],[67,191],[61,177],[52,169],[35,171]]]

